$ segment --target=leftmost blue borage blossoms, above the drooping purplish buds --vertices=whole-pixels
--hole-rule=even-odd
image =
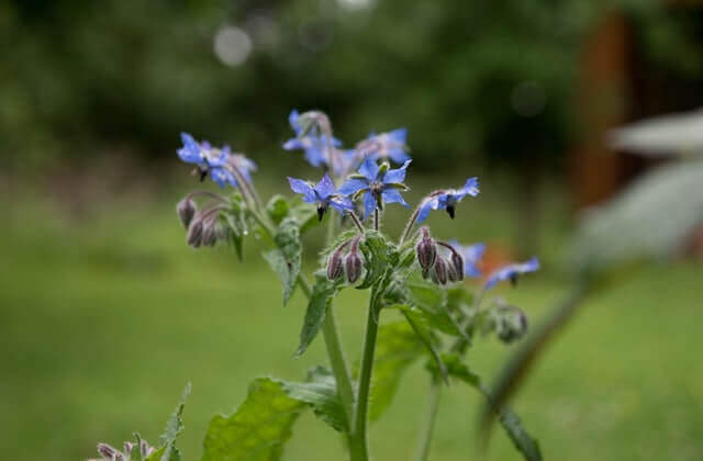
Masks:
[[[233,168],[238,169],[247,181],[252,181],[250,172],[256,170],[256,164],[244,155],[231,154],[228,146],[219,149],[213,148],[207,140],[198,143],[188,133],[181,133],[180,138],[183,147],[178,149],[178,157],[187,164],[197,166],[201,181],[210,175],[221,188],[226,184],[237,187],[237,181],[232,173]]]

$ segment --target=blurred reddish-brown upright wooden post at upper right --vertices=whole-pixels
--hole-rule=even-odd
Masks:
[[[605,138],[625,121],[627,32],[625,19],[611,12],[583,43],[577,95],[581,132],[571,165],[577,209],[606,199],[618,185],[621,159]]]

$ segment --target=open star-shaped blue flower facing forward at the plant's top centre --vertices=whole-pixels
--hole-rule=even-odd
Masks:
[[[364,220],[366,220],[378,206],[383,209],[383,203],[400,203],[410,207],[401,196],[399,190],[408,190],[403,184],[405,169],[412,160],[406,160],[402,167],[391,170],[388,164],[378,166],[376,160],[366,158],[359,167],[359,175],[353,175],[347,182],[342,184],[342,195],[354,195],[353,200],[364,194]]]

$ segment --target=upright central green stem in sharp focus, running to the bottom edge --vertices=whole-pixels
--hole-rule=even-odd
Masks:
[[[359,371],[359,390],[356,398],[356,412],[352,438],[357,443],[352,452],[353,460],[368,460],[368,435],[366,431],[369,409],[369,391],[371,387],[371,371],[373,370],[373,353],[376,351],[376,337],[378,336],[378,286],[371,289],[369,313],[366,319],[366,335],[364,337],[364,352],[361,355],[361,369]]]

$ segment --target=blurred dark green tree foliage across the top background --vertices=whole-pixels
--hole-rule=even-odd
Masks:
[[[327,111],[347,145],[406,125],[426,168],[555,166],[573,133],[581,38],[610,8],[652,58],[700,71],[687,18],[659,1],[10,0],[0,167],[102,146],[171,156],[185,130],[272,150],[293,106]],[[243,65],[213,52],[227,24],[252,40]]]

